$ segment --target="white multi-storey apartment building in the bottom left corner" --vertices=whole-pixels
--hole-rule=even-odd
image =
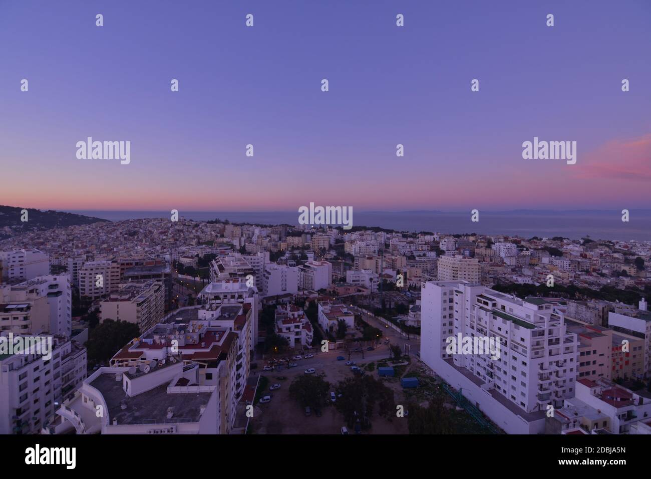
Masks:
[[[36,434],[86,377],[86,349],[52,338],[51,358],[0,355],[0,434]]]

